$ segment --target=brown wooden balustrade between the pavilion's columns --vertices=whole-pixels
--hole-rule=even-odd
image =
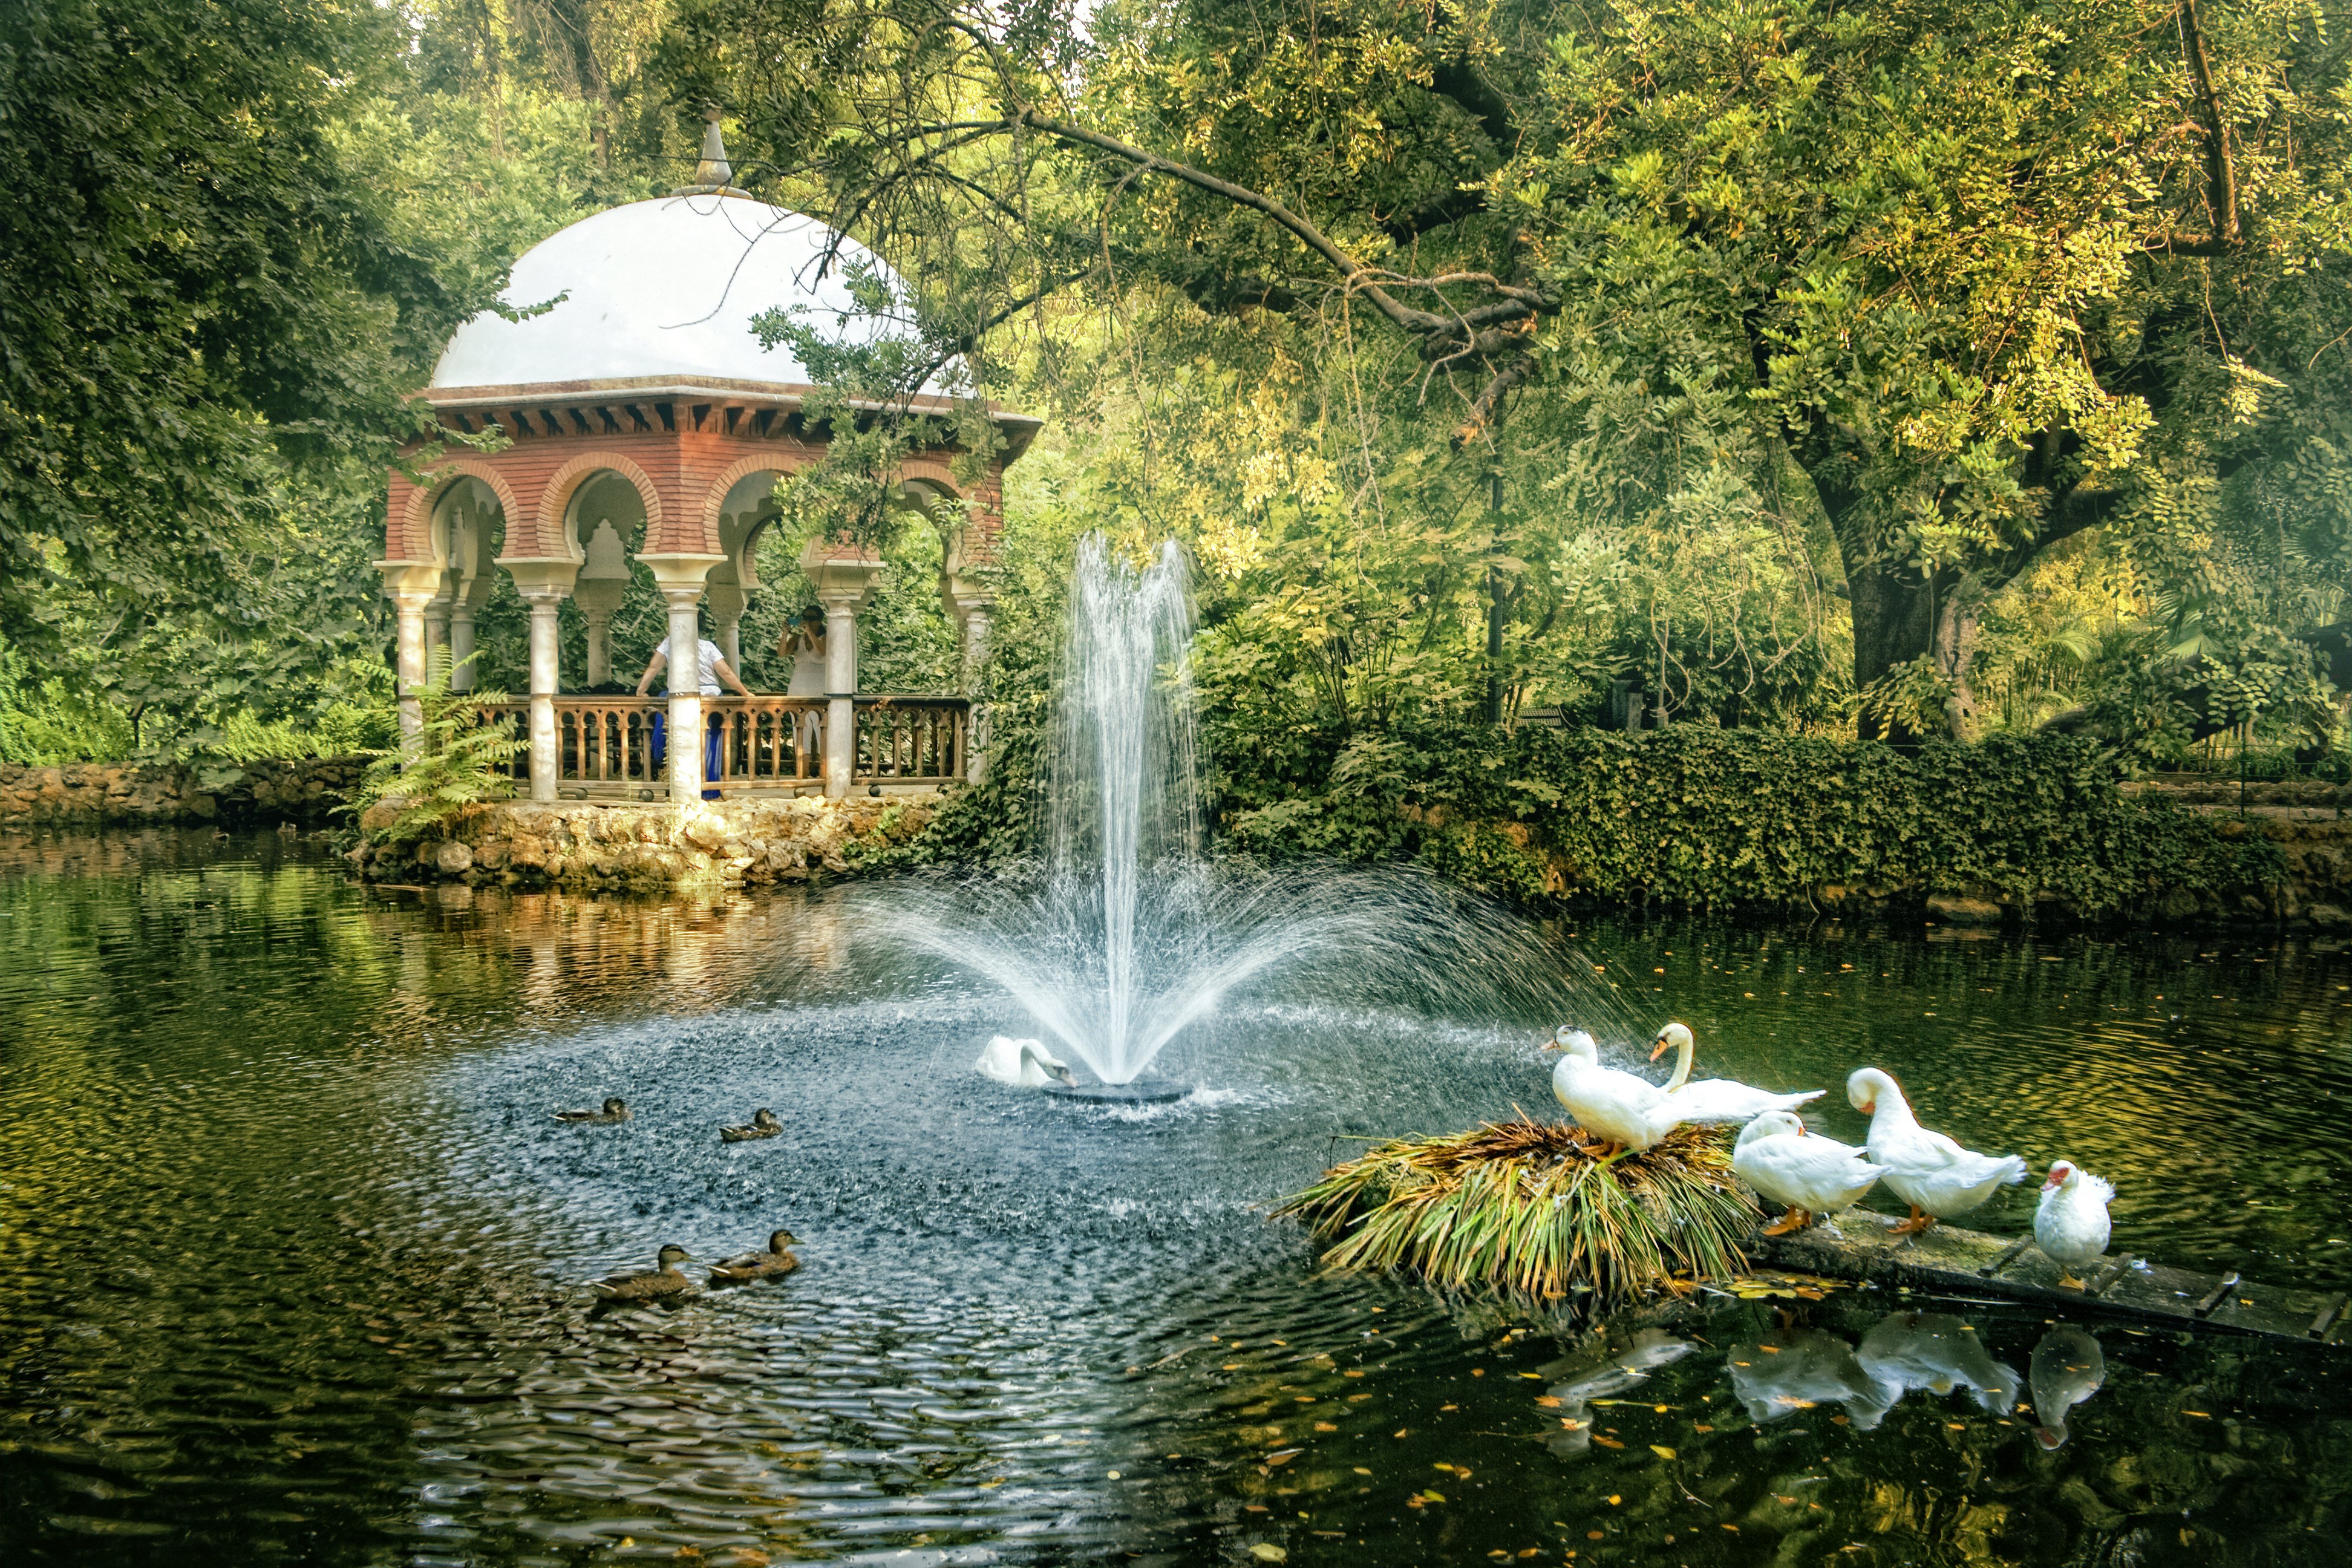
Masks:
[[[654,719],[668,715],[656,696],[555,698],[557,785],[623,785],[663,790],[654,759]],[[482,717],[529,738],[529,703],[485,705]],[[826,698],[706,696],[703,724],[720,731],[720,790],[793,788],[826,778]],[[946,783],[964,776],[971,703],[960,696],[856,698],[851,780]],[[513,762],[529,778],[529,752]]]

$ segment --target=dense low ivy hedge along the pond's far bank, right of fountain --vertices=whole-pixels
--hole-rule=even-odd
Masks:
[[[1270,856],[1416,858],[1526,903],[1806,905],[1823,886],[1987,889],[2079,917],[2277,879],[2277,849],[2114,790],[2110,752],[1994,736],[1879,743],[1677,726],[1305,738],[1277,771],[1221,750],[1223,830]]]

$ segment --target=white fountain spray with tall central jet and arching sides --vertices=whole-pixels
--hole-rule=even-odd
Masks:
[[[1002,987],[1091,1081],[1049,1093],[1174,1100],[1162,1051],[1244,987],[1287,999],[1388,1001],[1449,1016],[1606,1011],[1545,938],[1404,867],[1216,863],[1204,849],[1190,684],[1190,588],[1169,541],[1124,562],[1077,548],[1054,729],[1044,748],[1042,860],[1025,877],[882,889],[873,929]],[[1628,1030],[1630,1032],[1630,1030]]]

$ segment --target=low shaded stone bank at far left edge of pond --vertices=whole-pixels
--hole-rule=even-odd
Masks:
[[[0,764],[0,825],[301,823],[325,825],[365,757],[193,769],[165,762]]]

